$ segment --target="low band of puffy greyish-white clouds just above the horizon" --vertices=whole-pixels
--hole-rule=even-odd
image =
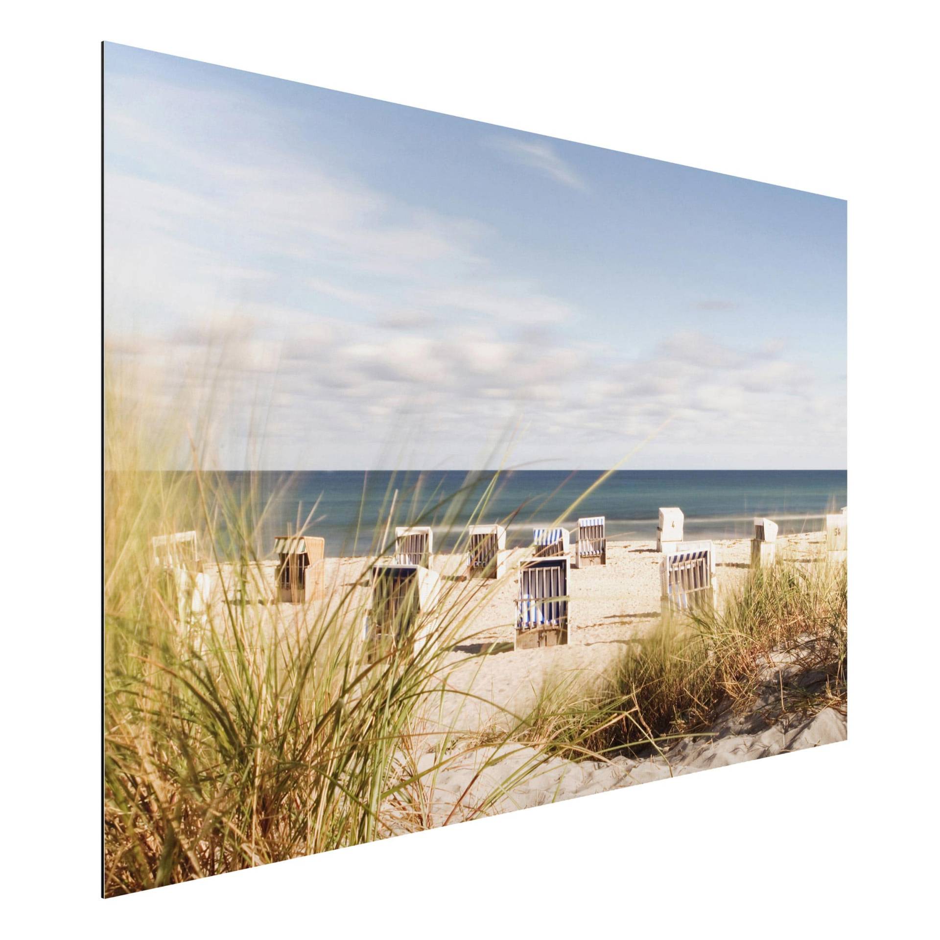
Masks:
[[[154,337],[116,344],[113,356],[146,365],[149,388],[162,390],[154,408],[172,402],[178,415],[185,402],[195,415],[211,401],[222,411],[214,421],[222,436],[242,440],[270,405],[269,427],[291,428],[293,444],[304,442],[303,466],[374,466],[393,440],[414,445],[417,463],[449,454],[450,465],[466,466],[520,421],[528,431],[514,462],[547,455],[608,466],[670,417],[638,465],[709,466],[719,453],[718,465],[767,465],[769,453],[778,465],[808,466],[844,450],[844,397],[824,394],[811,374],[780,359],[766,360],[766,381],[756,382],[760,349],[729,350],[712,337],[699,340],[723,366],[677,359],[670,340],[617,369],[588,344],[497,339],[459,324],[437,337],[388,337],[374,324],[311,318],[280,344],[259,336],[265,329],[202,334],[201,346],[197,332]],[[279,439],[266,440],[271,468],[282,467]],[[242,440],[234,452],[244,450]]]

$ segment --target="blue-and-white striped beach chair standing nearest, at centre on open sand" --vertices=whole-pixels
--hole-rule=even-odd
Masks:
[[[517,650],[568,643],[568,556],[531,558],[519,567]]]

